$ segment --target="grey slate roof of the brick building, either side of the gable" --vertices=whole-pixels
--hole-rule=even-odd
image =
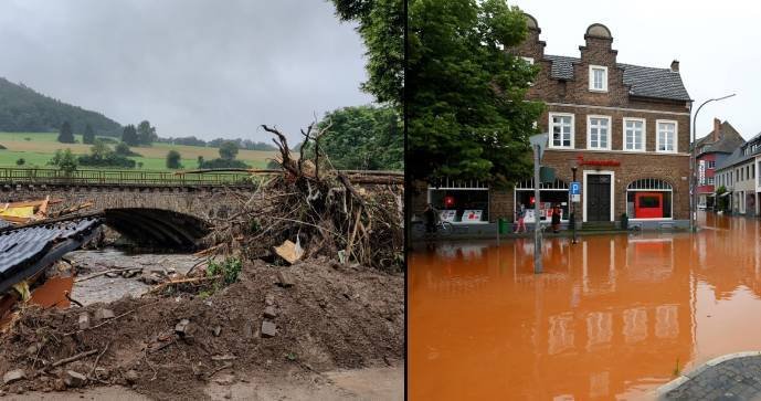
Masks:
[[[581,62],[581,59],[564,55],[548,54],[545,59],[552,62],[550,75],[566,81],[573,80],[573,64]],[[691,101],[678,72],[621,63],[617,66],[624,70],[624,84],[630,85],[633,96]]]

